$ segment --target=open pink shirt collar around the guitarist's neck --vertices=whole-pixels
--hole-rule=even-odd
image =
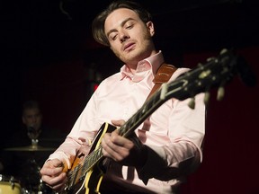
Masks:
[[[135,74],[133,74],[129,66],[125,64],[121,67],[121,79],[128,77],[131,79],[132,82],[139,82],[144,79],[144,77],[147,75],[148,71],[152,68],[153,76],[156,75],[156,71],[161,64],[164,63],[164,57],[162,54],[162,51],[159,50],[158,53],[155,55],[152,55],[150,57],[147,57],[141,61],[138,62],[138,66],[136,69]]]

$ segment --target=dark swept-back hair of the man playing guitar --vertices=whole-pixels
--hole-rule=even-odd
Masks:
[[[125,0],[114,1],[112,4],[108,5],[108,7],[103,10],[102,13],[99,13],[94,18],[92,23],[92,33],[94,40],[105,46],[110,45],[109,40],[107,39],[104,32],[104,22],[110,13],[119,8],[127,8],[134,11],[135,13],[138,13],[138,16],[142,22],[146,23],[152,20],[152,15],[146,9],[142,8],[137,2]]]

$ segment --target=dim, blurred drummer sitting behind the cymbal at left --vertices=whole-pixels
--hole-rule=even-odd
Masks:
[[[13,130],[12,137],[5,144],[7,151],[2,159],[2,172],[16,177],[23,187],[32,191],[38,191],[40,166],[49,152],[65,138],[58,129],[49,128],[42,121],[39,101],[24,101],[22,127]]]

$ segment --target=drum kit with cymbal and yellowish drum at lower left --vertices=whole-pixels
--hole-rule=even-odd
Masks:
[[[45,185],[40,179],[40,166],[36,162],[35,154],[44,154],[54,151],[53,147],[43,147],[38,145],[38,139],[31,139],[31,145],[21,147],[9,147],[4,151],[25,154],[27,167],[26,175],[14,178],[13,176],[0,174],[0,194],[50,194],[55,193]],[[11,154],[12,154],[11,153]],[[32,155],[32,157],[31,157]],[[21,167],[22,168],[22,167]]]

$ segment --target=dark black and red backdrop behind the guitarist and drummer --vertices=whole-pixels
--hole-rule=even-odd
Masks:
[[[21,125],[22,101],[40,101],[43,119],[65,134],[94,84],[121,67],[94,42],[91,22],[111,1],[0,2],[1,146]],[[153,13],[156,46],[168,63],[195,67],[221,48],[234,48],[258,75],[257,0],[139,1]],[[211,90],[203,163],[183,193],[259,193],[258,84],[238,76],[223,101]]]

